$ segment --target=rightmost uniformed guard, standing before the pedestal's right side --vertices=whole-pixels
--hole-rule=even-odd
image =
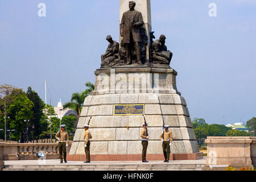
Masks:
[[[169,126],[164,126],[164,131],[160,137],[163,141],[163,154],[164,154],[164,162],[169,162],[170,159],[170,146],[172,144],[172,132],[168,130]]]

